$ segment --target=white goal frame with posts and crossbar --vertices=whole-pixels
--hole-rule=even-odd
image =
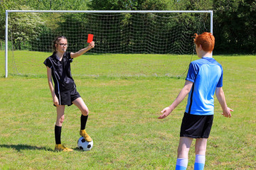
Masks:
[[[5,77],[8,77],[9,13],[210,13],[210,33],[213,33],[213,11],[38,11],[38,10],[6,10]]]

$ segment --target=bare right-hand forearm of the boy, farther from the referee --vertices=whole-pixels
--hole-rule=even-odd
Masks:
[[[225,95],[222,87],[217,87],[215,91],[216,97],[220,103],[221,108],[223,109],[223,115],[227,118],[231,117],[230,111],[233,111],[231,108],[228,108],[227,103],[225,101]]]

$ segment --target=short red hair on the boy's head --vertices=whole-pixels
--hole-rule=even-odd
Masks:
[[[212,33],[204,32],[201,35],[195,33],[194,43],[201,45],[202,49],[206,52],[212,52],[215,45],[215,38]]]

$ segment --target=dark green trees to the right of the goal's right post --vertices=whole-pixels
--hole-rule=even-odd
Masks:
[[[256,52],[256,2],[252,0],[216,1],[215,50],[220,52]]]

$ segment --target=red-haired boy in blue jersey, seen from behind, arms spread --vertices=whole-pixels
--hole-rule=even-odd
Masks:
[[[223,86],[223,68],[212,57],[215,38],[211,33],[195,34],[194,43],[199,60],[191,62],[185,85],[171,106],[161,111],[159,119],[166,118],[188,94],[188,103],[181,123],[180,141],[176,170],[188,166],[188,151],[193,138],[196,139],[196,160],[194,169],[203,169],[206,161],[206,144],[213,124],[214,93],[216,94],[223,115],[231,117],[225,102]]]

